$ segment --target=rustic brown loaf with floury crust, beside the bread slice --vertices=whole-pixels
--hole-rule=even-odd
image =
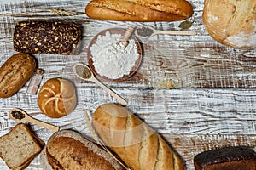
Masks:
[[[54,133],[44,147],[41,161],[45,170],[124,170],[107,151],[72,130]]]

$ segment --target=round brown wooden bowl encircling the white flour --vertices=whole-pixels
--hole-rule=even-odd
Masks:
[[[134,35],[131,35],[130,39],[134,39],[136,46],[137,46],[137,52],[139,54],[138,59],[136,60],[135,65],[132,67],[130,73],[128,75],[124,75],[123,77],[117,78],[117,79],[110,79],[108,77],[102,76],[100,74],[98,74],[96,72],[96,69],[93,65],[93,56],[92,54],[90,54],[90,47],[96,43],[97,37],[98,36],[105,36],[106,32],[109,31],[110,34],[120,34],[120,35],[124,35],[125,30],[121,29],[121,28],[110,28],[104,31],[99,32],[91,41],[89,44],[89,47],[87,49],[87,59],[88,59],[88,64],[90,66],[91,71],[95,74],[95,76],[104,82],[121,82],[121,81],[125,81],[126,79],[128,79],[129,77],[131,77],[132,75],[134,75],[137,71],[137,69],[139,68],[139,66],[141,65],[142,59],[143,59],[143,52],[142,52],[142,47],[141,44],[138,42],[137,38]]]

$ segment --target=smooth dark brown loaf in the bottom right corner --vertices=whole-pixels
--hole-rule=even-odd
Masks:
[[[245,146],[224,147],[194,157],[195,170],[255,170],[256,152]]]

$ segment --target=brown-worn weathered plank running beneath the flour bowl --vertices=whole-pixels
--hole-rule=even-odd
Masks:
[[[90,42],[88,39],[90,38],[87,37],[83,40],[81,58],[62,56],[64,60],[57,60],[60,59],[59,56],[49,55],[49,57],[45,57],[39,55],[44,58],[40,59],[40,62],[45,62],[45,65],[39,64],[44,65],[46,70],[56,70],[52,67],[51,61],[60,62],[62,67],[67,66],[63,62],[66,60],[72,61],[71,63],[68,62],[70,65],[78,61],[86,63],[86,50]],[[143,44],[143,63],[137,74],[124,83],[137,83],[152,88],[169,88],[169,84],[175,88],[255,88],[256,59],[250,55],[236,54],[236,51],[231,48],[222,48],[220,54],[219,51],[211,51],[212,47],[201,47],[200,49],[203,51],[201,52],[195,51],[193,44],[192,48],[180,48],[177,43],[152,42]],[[15,51],[11,38],[4,38],[2,44],[1,62],[3,63]]]

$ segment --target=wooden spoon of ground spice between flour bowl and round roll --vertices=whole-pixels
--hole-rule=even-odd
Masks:
[[[73,71],[79,78],[86,80],[86,81],[95,82],[101,88],[106,90],[108,92],[108,94],[112,95],[115,99],[119,100],[119,102],[122,105],[127,105],[127,102],[125,101],[125,99],[122,99],[118,94],[115,94],[110,88],[108,88],[102,82],[100,82],[98,79],[96,79],[96,77],[90,70],[89,66],[79,63],[79,64],[76,64],[73,66]]]

